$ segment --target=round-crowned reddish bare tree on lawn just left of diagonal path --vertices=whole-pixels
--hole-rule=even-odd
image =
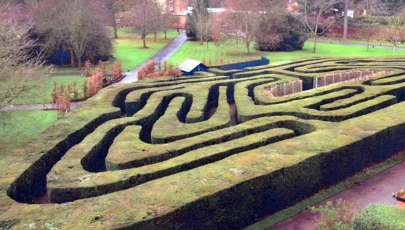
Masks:
[[[146,48],[146,35],[159,31],[161,12],[156,1],[137,0],[122,18],[125,26],[132,28],[141,36],[143,48]]]

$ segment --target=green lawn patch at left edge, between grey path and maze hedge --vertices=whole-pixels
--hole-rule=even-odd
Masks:
[[[39,135],[56,119],[55,111],[16,110],[0,112],[0,161]]]

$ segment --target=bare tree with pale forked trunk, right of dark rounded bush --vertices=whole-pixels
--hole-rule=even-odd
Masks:
[[[331,25],[339,22],[340,12],[335,8],[341,0],[301,0],[298,12],[306,32],[313,39],[312,52],[316,51],[316,38]]]

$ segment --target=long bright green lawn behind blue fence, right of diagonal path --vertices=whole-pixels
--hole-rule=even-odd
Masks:
[[[206,45],[199,45],[199,42],[186,41],[169,59],[171,62],[182,63],[187,58],[192,58],[196,60],[201,60],[205,58],[208,60],[212,59],[212,64],[214,64],[214,59],[222,58],[224,61],[232,59],[244,60],[245,58],[259,58],[260,56],[265,56],[270,59],[270,62],[282,60],[290,60],[294,58],[304,57],[304,56],[382,56],[382,55],[392,55],[392,49],[382,49],[382,48],[369,48],[366,51],[365,47],[362,46],[352,46],[352,45],[339,45],[339,44],[328,44],[328,43],[316,43],[316,53],[312,53],[312,42],[305,42],[302,50],[296,50],[292,52],[265,52],[257,51],[253,49],[253,45],[250,47],[250,54],[244,54],[244,46],[223,46],[216,47],[213,43],[209,43],[209,50],[206,50]],[[405,55],[405,50],[396,50],[396,55]]]

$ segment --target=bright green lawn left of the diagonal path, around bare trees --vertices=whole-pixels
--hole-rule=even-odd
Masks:
[[[157,51],[159,51],[164,45],[178,36],[177,31],[167,31],[167,39],[164,39],[164,33],[159,32],[157,34],[156,42],[153,41],[153,34],[146,36],[146,46],[148,48],[143,49],[142,40],[140,36],[130,32],[129,28],[120,28],[117,32],[118,38],[115,39],[113,44],[112,55],[115,60],[122,61],[122,71],[133,70],[147,58],[151,57]],[[110,62],[110,66],[115,62]],[[84,67],[72,68],[72,67],[56,67],[54,72],[83,72]]]

